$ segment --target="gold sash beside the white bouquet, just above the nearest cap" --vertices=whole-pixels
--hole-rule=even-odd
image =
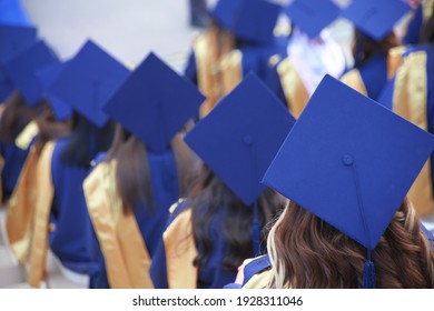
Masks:
[[[297,119],[309,100],[309,93],[290,58],[280,61],[277,72],[289,111]]]

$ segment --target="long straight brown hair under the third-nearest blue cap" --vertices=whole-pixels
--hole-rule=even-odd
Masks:
[[[179,194],[184,197],[196,158],[179,134],[174,138],[170,148],[174,150],[178,170]],[[107,161],[112,159],[117,160],[116,179],[124,212],[131,211],[138,203],[145,203],[149,211],[152,211],[155,202],[146,146],[120,124],[116,127],[115,138],[106,158]]]

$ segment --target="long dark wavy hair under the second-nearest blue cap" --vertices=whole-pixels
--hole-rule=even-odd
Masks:
[[[205,164],[193,188],[189,205],[193,209],[193,234],[200,245],[195,265],[204,267],[213,254],[213,237],[209,227],[215,215],[226,209],[221,233],[228,244],[224,257],[224,268],[236,272],[243,260],[253,255],[254,209],[245,205],[234,192]],[[276,218],[284,207],[284,199],[267,189],[258,199],[259,228],[262,242],[267,238],[267,224]]]

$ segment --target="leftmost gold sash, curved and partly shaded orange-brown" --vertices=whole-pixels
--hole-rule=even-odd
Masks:
[[[9,244],[18,262],[22,265],[29,260],[30,242],[33,233],[33,214],[38,197],[39,157],[37,146],[32,146],[17,185],[8,201],[6,215]]]

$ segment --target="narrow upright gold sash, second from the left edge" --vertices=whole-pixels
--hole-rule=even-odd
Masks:
[[[55,195],[51,178],[51,157],[53,150],[53,141],[45,144],[37,168],[34,230],[30,248],[28,279],[28,283],[34,288],[39,288],[41,282],[47,278],[48,231],[50,229],[48,222],[52,198]]]

